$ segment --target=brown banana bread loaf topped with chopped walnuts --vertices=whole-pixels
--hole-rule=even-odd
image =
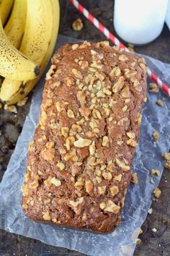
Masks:
[[[108,42],[53,56],[29,145],[22,208],[32,220],[107,233],[120,223],[146,101],[146,64]]]

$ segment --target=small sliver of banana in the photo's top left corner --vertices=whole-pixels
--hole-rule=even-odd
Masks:
[[[2,25],[5,24],[6,20],[9,17],[9,13],[12,9],[12,4],[14,0],[1,0],[0,1],[0,14]]]

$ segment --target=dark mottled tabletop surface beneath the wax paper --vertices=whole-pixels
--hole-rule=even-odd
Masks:
[[[60,33],[73,38],[84,40],[105,40],[102,33],[97,30],[82,14],[78,12],[68,0],[61,0],[61,26]],[[80,1],[81,4],[89,9],[110,31],[114,33],[112,25],[113,2],[111,0],[94,0]],[[76,18],[81,18],[84,27],[81,31],[76,32],[71,28],[71,24]],[[170,33],[166,25],[161,35],[147,46],[135,47],[135,51],[143,54],[148,54],[153,58],[170,63]],[[31,95],[30,95],[31,99]],[[9,113],[0,110],[0,180],[6,170],[9,158],[14,151],[17,137],[22,130],[25,116],[29,111],[30,99],[25,106],[18,108],[17,114]],[[143,223],[143,234],[140,235],[142,242],[135,249],[135,256],[168,256],[170,255],[170,171],[164,170],[159,185],[162,195],[152,203],[153,213],[148,215],[145,223]],[[152,231],[153,228],[157,232]],[[29,239],[24,236],[10,234],[9,232],[1,231],[5,238],[5,250],[0,255],[83,255],[79,252],[71,251],[60,247],[52,247],[41,242]],[[50,235],[50,234],[49,234]]]

